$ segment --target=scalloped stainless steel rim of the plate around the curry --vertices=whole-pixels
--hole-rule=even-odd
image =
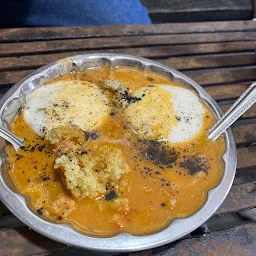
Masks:
[[[183,75],[157,62],[121,54],[91,54],[79,55],[66,58],[55,63],[44,66],[25,79],[13,86],[0,101],[0,120],[3,125],[8,126],[21,105],[25,102],[25,96],[32,90],[40,87],[42,83],[72,70],[100,66],[131,66],[142,71],[153,71],[174,80],[181,81],[188,87],[197,91],[198,95],[216,115],[220,117],[222,111],[217,103],[197,83]],[[26,203],[24,196],[20,195],[12,183],[6,170],[4,148],[1,151],[1,175],[0,175],[0,198],[2,202],[21,221],[33,230],[52,238],[56,241],[98,251],[127,252],[148,249],[173,242],[182,236],[192,232],[202,225],[218,209],[232,185],[236,170],[236,147],[231,130],[225,132],[226,152],[223,155],[225,163],[224,175],[218,186],[208,193],[207,202],[194,215],[175,219],[166,229],[144,236],[134,236],[128,233],[120,233],[113,237],[97,238],[85,235],[75,230],[69,224],[56,224],[45,220],[34,213]]]

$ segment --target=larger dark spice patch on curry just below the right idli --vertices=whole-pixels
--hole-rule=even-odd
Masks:
[[[164,165],[165,167],[172,168],[173,163],[179,157],[179,153],[175,149],[168,149],[159,141],[145,140],[142,143],[145,147],[143,151],[144,157],[159,167]]]

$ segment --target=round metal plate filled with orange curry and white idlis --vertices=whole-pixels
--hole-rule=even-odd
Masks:
[[[0,195],[35,231],[91,250],[175,241],[225,199],[236,170],[222,112],[194,81],[121,54],[42,67],[1,99],[1,121],[24,147],[2,145]]]

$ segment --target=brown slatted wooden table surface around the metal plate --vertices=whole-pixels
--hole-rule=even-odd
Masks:
[[[67,56],[125,53],[181,70],[226,111],[256,80],[255,48],[256,21],[0,29],[0,94],[32,70]],[[256,105],[235,123],[233,132],[237,175],[212,217],[217,221],[256,207]],[[0,255],[48,255],[66,249],[23,225],[0,203]],[[256,255],[256,222],[246,220],[217,231],[204,225],[178,242],[129,255],[170,254]]]

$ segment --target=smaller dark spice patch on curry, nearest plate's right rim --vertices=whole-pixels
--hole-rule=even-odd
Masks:
[[[209,162],[206,158],[198,155],[184,156],[183,158],[184,160],[180,163],[180,167],[186,169],[189,175],[194,175],[197,172],[208,172]]]

